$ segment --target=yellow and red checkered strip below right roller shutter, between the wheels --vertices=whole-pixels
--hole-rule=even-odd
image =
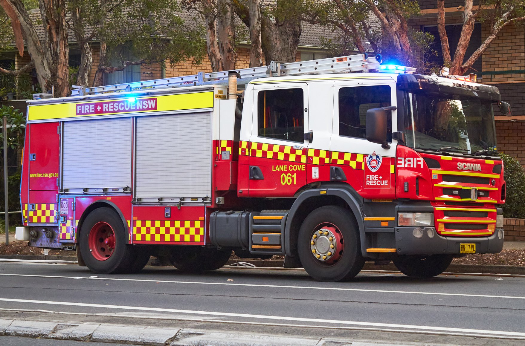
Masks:
[[[137,242],[204,242],[204,221],[135,220],[133,240]]]

